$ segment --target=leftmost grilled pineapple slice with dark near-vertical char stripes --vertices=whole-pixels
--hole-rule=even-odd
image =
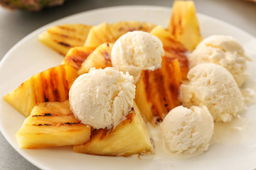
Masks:
[[[78,70],[63,64],[34,74],[17,89],[4,96],[4,100],[26,117],[34,106],[47,101],[65,101]]]

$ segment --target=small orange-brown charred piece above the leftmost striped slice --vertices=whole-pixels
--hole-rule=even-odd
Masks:
[[[75,69],[80,69],[82,62],[87,59],[93,50],[95,50],[94,47],[73,47],[65,56],[63,64],[69,64]]]

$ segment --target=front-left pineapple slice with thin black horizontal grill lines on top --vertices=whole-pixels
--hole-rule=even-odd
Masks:
[[[16,132],[21,148],[78,145],[90,140],[90,127],[80,123],[69,101],[40,103]]]

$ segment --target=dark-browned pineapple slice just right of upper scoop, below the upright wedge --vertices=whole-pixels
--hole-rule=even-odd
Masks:
[[[171,33],[164,30],[161,26],[156,26],[151,30],[151,35],[155,35],[161,40],[161,42],[163,42],[165,56],[169,58],[169,60],[178,59],[182,78],[186,79],[189,69],[188,59],[186,57],[188,50],[186,47],[184,47],[181,42],[178,42]]]

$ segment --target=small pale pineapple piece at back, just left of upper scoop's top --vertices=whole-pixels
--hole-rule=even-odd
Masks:
[[[104,42],[114,42],[117,38],[114,37],[110,25],[101,23],[98,26],[92,27],[85,41],[86,47],[97,47]]]

